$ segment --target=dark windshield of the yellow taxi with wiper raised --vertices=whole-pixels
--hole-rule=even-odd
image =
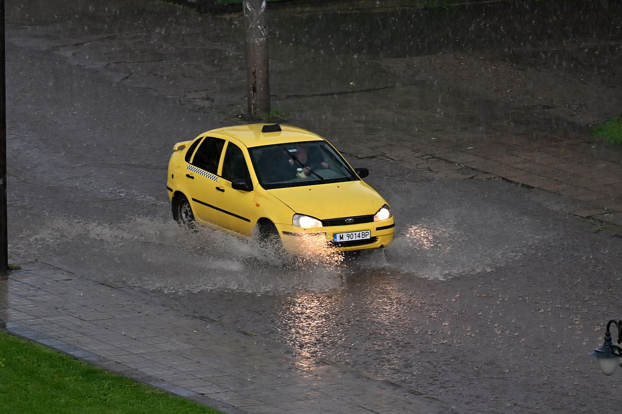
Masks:
[[[266,145],[249,152],[259,184],[266,190],[359,179],[325,141]]]

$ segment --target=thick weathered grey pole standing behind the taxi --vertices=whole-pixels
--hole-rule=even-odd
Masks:
[[[243,7],[246,22],[248,113],[253,119],[266,118],[270,113],[266,0],[244,0]]]

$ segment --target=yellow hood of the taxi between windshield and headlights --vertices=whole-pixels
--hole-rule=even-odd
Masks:
[[[295,213],[317,219],[376,214],[386,201],[363,181],[275,188],[269,193]]]

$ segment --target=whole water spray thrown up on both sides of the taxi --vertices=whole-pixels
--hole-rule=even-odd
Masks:
[[[437,210],[414,219],[397,227],[385,249],[343,254],[316,237],[301,237],[302,254],[290,255],[253,238],[203,226],[183,228],[169,218],[109,224],[50,216],[24,231],[11,251],[44,257],[98,280],[165,293],[270,294],[328,292],[366,274],[445,280],[489,272],[551,234],[537,221],[490,206]]]

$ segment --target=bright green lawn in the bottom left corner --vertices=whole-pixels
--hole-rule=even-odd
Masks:
[[[220,413],[4,331],[0,331],[0,412]]]

